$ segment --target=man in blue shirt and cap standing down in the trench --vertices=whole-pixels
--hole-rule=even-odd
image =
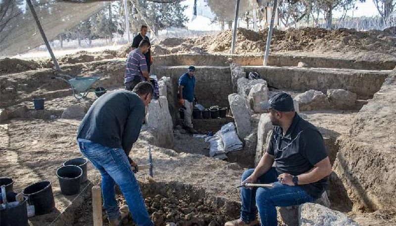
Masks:
[[[191,133],[197,133],[194,130],[193,123],[191,122],[191,116],[193,115],[193,101],[195,97],[195,67],[190,66],[186,73],[179,78],[179,103],[184,106],[184,125],[186,130]]]

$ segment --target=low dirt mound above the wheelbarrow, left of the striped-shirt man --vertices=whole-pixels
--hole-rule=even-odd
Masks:
[[[111,53],[106,53],[105,51],[100,53],[93,53],[87,51],[79,51],[74,54],[65,55],[59,58],[60,64],[75,64],[75,63],[86,63],[92,61],[99,61],[103,59],[112,59],[114,58],[114,53],[111,50],[106,50]]]

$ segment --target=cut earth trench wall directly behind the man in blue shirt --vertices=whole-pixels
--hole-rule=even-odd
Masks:
[[[187,72],[187,68],[188,66],[154,67],[151,74],[155,74],[158,79],[170,77],[174,93],[177,93],[179,78]],[[229,67],[197,66],[195,77],[196,95],[200,104],[205,107],[229,105],[228,94],[233,92]],[[173,101],[177,106],[177,97]]]

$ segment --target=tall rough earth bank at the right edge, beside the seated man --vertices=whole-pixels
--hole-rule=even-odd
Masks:
[[[333,183],[345,188],[353,209],[396,208],[396,70],[356,115],[340,139]]]

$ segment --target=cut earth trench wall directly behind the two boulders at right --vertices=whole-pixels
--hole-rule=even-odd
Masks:
[[[369,99],[380,90],[390,71],[356,71],[349,69],[315,69],[297,67],[245,66],[245,72],[257,72],[269,86],[286,90],[344,89]]]

